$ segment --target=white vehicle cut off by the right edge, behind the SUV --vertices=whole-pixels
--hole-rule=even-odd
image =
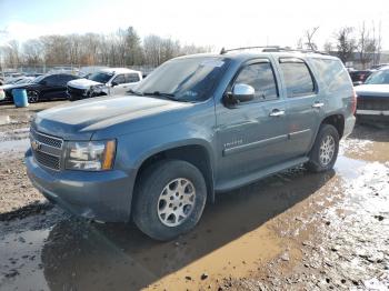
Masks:
[[[360,120],[389,121],[389,68],[370,74],[356,88],[357,117]]]

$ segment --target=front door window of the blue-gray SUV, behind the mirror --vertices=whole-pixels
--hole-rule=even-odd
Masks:
[[[278,90],[270,62],[253,63],[245,67],[235,83],[245,83],[256,90],[255,99],[272,100],[278,98]]]

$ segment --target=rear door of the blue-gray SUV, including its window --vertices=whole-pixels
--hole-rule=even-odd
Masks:
[[[288,158],[306,154],[323,116],[323,92],[319,91],[307,62],[299,58],[278,59],[285,96],[288,100]]]

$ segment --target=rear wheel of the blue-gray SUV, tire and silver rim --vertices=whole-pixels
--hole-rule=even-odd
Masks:
[[[331,124],[321,124],[306,168],[323,172],[333,168],[339,151],[339,133]]]

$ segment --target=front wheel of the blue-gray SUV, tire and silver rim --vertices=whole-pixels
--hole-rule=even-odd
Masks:
[[[191,163],[164,160],[141,173],[133,221],[154,240],[171,240],[196,227],[207,201],[201,172]]]

